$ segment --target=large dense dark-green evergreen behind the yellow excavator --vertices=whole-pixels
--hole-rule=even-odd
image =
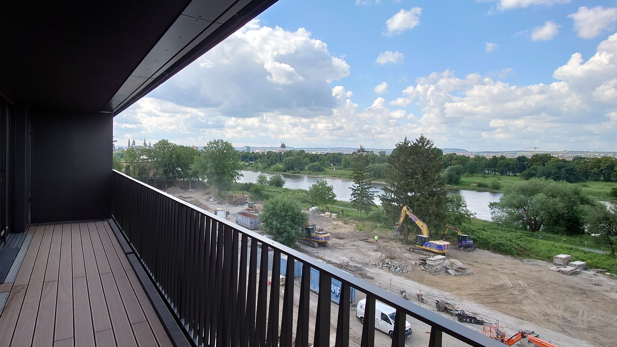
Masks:
[[[397,220],[400,210],[407,205],[434,230],[435,237],[441,237],[445,225],[446,204],[448,203],[445,183],[441,178],[442,151],[435,148],[433,141],[421,135],[411,142],[405,138],[397,143],[388,157],[386,182],[381,196],[384,210],[392,220]],[[403,230],[408,236],[409,220],[405,219]],[[412,225],[416,230],[416,226]]]

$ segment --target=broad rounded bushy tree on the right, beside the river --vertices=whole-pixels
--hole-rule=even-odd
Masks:
[[[578,186],[539,178],[506,187],[489,204],[495,222],[563,235],[584,233],[585,208],[594,201]]]

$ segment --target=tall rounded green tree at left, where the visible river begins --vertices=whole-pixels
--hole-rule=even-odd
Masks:
[[[240,173],[240,154],[231,143],[213,140],[201,150],[192,169],[197,177],[205,179],[219,191],[229,190],[231,183],[242,177]]]

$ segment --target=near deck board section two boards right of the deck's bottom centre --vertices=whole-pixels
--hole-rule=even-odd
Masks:
[[[109,317],[112,320],[116,342],[122,346],[137,346],[122,299],[120,299],[114,275],[111,273],[101,274],[101,282],[105,290],[107,309],[109,309]]]

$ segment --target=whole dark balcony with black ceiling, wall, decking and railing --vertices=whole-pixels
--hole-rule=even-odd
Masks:
[[[501,346],[112,172],[114,115],[275,2],[0,5],[0,346]]]

